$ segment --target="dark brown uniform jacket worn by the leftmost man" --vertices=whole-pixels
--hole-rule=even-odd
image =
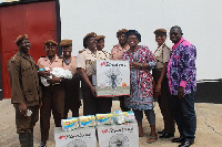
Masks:
[[[18,52],[8,61],[8,70],[11,103],[24,103],[27,106],[39,105],[41,92],[34,60]]]

